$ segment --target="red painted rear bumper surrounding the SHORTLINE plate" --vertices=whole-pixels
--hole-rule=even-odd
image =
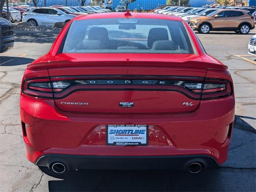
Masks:
[[[193,112],[179,114],[63,112],[56,108],[53,100],[23,94],[20,106],[26,156],[33,163],[38,163],[38,159],[45,155],[60,154],[123,158],[143,156],[143,161],[150,156],[171,158],[196,155],[214,158],[222,164],[227,160],[235,100],[233,96],[205,100]],[[152,135],[149,135],[148,146],[106,146],[108,124],[149,125]],[[78,161],[86,159],[79,158]]]

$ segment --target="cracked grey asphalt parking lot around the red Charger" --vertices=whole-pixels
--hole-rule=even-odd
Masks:
[[[256,191],[256,58],[247,54],[254,34],[198,34],[205,50],[229,67],[235,86],[236,121],[225,164],[200,174],[84,170],[68,180],[47,176],[27,161],[19,117],[26,64],[45,54],[56,35],[16,35],[14,48],[0,54],[0,191]]]

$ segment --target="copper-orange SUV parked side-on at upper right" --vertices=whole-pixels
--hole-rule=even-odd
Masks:
[[[235,9],[216,10],[207,16],[190,20],[193,29],[205,34],[211,30],[248,34],[254,25],[254,17],[248,11]]]

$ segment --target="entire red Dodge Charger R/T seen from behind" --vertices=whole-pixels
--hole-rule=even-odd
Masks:
[[[80,169],[186,169],[227,160],[235,98],[227,66],[180,18],[78,16],[27,66],[27,159],[51,176]]]

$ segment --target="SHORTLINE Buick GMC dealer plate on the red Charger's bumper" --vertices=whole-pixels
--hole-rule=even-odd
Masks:
[[[147,125],[107,125],[106,145],[147,146]]]

